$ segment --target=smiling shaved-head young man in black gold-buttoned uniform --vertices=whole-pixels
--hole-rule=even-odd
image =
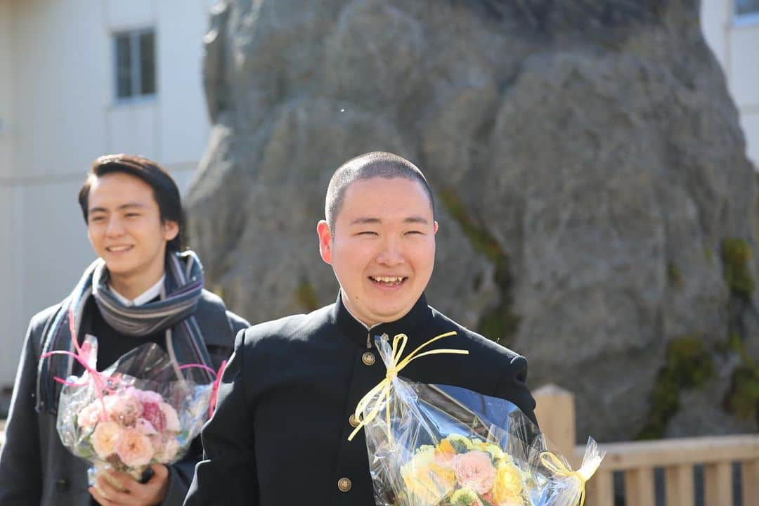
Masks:
[[[508,399],[534,420],[527,361],[427,305],[435,261],[433,195],[408,160],[386,152],[345,162],[332,176],[322,259],[340,284],[337,301],[238,334],[204,460],[185,504],[374,504],[357,402],[385,376],[376,337],[408,335],[413,350],[455,331],[439,354],[403,376]]]

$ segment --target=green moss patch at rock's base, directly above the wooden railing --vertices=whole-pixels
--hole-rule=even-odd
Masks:
[[[636,439],[663,437],[667,421],[679,410],[680,391],[703,386],[713,373],[710,354],[701,338],[685,335],[669,341],[666,362],[653,385],[649,419]]]

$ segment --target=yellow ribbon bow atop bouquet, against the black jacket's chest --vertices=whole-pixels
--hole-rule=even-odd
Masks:
[[[408,366],[408,364],[411,363],[411,360],[415,360],[419,357],[424,357],[425,355],[468,355],[468,350],[449,349],[427,350],[419,353],[420,350],[422,350],[424,347],[433,344],[433,342],[437,341],[438,339],[447,338],[450,335],[455,335],[455,333],[455,331],[452,331],[446,332],[445,334],[436,335],[434,338],[430,339],[430,341],[427,341],[424,344],[420,344],[416,350],[408,354],[403,360],[401,360],[401,355],[403,354],[403,350],[405,350],[406,344],[408,342],[408,336],[405,334],[398,334],[392,338],[392,357],[387,368],[385,379],[377,383],[374,388],[368,391],[367,394],[361,398],[361,401],[358,401],[354,416],[356,420],[359,420],[359,423],[353,432],[351,432],[351,435],[348,436],[348,441],[351,441],[355,435],[364,428],[364,426],[376,418],[377,414],[379,413],[379,402],[374,403],[372,409],[369,410],[366,416],[364,416],[364,410],[366,410],[367,406],[376,395],[380,395],[385,398],[385,419],[387,423],[387,435],[388,440],[392,441],[392,436],[390,435],[390,390],[392,388],[392,380],[398,377],[398,372],[401,372],[405,366]]]

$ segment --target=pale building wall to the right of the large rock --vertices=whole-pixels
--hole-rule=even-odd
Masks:
[[[734,0],[701,0],[701,27],[738,106],[748,158],[759,167],[759,15],[736,17]]]

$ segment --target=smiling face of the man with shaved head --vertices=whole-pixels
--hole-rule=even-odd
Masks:
[[[417,302],[432,275],[436,231],[424,187],[405,178],[354,181],[334,230],[317,226],[343,303],[366,325],[402,318]]]

